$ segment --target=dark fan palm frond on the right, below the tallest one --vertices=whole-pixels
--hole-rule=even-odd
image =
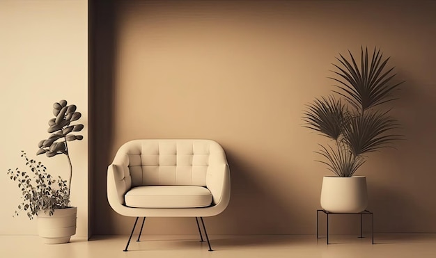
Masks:
[[[367,111],[364,115],[349,120],[343,129],[343,140],[351,152],[359,156],[389,147],[401,138],[398,134],[387,134],[398,128],[398,123],[387,115],[389,111]]]

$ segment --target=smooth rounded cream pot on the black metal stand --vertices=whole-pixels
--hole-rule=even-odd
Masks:
[[[332,213],[359,213],[368,206],[366,177],[324,177],[321,207]]]

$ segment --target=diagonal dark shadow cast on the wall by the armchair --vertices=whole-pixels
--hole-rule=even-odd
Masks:
[[[221,222],[210,225],[211,232],[289,234],[289,220],[293,215],[286,207],[292,204],[283,204],[275,195],[276,191],[268,189],[259,177],[272,172],[258,170],[231,150],[226,150],[226,156],[231,170],[231,200],[226,211],[216,218]],[[215,225],[219,227],[212,231]]]

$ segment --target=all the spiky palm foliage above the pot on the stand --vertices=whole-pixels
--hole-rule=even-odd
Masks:
[[[392,83],[396,74],[394,67],[387,67],[389,58],[383,58],[377,48],[370,60],[368,48],[361,47],[360,62],[348,53],[347,58],[339,54],[338,64],[332,64],[336,69],[330,71],[335,75],[329,78],[336,83],[333,92],[339,97],[316,99],[307,105],[302,118],[304,127],[335,140],[334,147],[320,145],[316,153],[325,158],[318,162],[338,177],[351,177],[365,162],[365,153],[392,147],[394,141],[403,139],[393,133],[399,124],[388,115],[389,110],[373,108],[396,99],[392,93],[403,83]]]

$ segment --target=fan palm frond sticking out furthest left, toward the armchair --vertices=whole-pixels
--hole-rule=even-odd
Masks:
[[[342,124],[346,117],[345,105],[341,99],[336,100],[329,96],[315,99],[313,104],[308,104],[302,120],[307,123],[304,127],[337,140],[342,134]]]

